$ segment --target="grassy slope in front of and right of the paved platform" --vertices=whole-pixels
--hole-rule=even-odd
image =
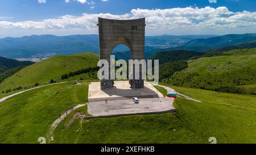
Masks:
[[[256,143],[256,97],[174,87],[176,114],[90,119],[55,129],[52,143]],[[67,120],[64,120],[67,122]]]

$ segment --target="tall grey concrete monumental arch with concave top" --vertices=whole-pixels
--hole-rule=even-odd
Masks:
[[[113,48],[119,44],[124,44],[130,48],[131,59],[144,59],[145,26],[145,18],[131,20],[98,18],[100,60],[109,62],[109,73],[110,55],[112,55]],[[133,78],[129,80],[132,88],[144,87],[141,69],[139,74],[139,79]],[[113,85],[114,80],[110,79],[110,74],[109,79],[101,79],[101,90],[113,87]]]

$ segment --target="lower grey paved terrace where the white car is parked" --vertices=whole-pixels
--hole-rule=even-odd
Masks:
[[[135,104],[132,99],[89,102],[89,118],[104,118],[124,115],[161,114],[175,112],[173,98],[143,98]]]

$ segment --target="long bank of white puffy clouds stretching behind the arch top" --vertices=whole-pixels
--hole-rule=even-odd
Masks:
[[[147,34],[159,33],[240,33],[254,31],[256,12],[232,12],[226,7],[185,7],[172,9],[133,9],[122,15],[82,14],[63,15],[41,21],[9,22],[0,21],[0,27],[24,30],[76,30],[82,33],[97,33],[98,16],[109,19],[146,18]],[[80,30],[80,31],[79,31]]]

